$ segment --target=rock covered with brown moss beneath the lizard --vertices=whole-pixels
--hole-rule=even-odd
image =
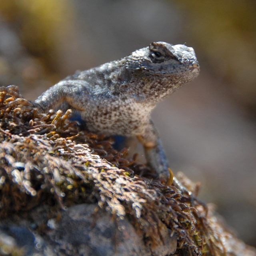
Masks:
[[[4,228],[14,226],[41,239],[8,255],[256,255],[212,207],[154,180],[70,115],[40,114],[16,86],[0,88],[0,233],[16,241]]]

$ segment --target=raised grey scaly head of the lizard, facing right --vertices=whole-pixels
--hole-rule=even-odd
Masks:
[[[158,91],[162,96],[190,82],[200,71],[194,49],[183,44],[153,42],[132,52],[126,59],[126,68],[133,76],[148,81],[144,86],[148,85],[150,90]]]

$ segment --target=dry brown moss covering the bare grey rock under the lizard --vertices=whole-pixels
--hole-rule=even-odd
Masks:
[[[42,204],[56,210],[97,202],[116,218],[128,216],[148,244],[161,243],[161,229],[169,228],[180,251],[229,255],[228,241],[236,238],[213,210],[197,200],[192,206],[188,194],[149,178],[136,157],[124,158],[126,149],[117,152],[104,136],[80,131],[70,115],[70,110],[39,114],[15,86],[0,88],[2,220]]]

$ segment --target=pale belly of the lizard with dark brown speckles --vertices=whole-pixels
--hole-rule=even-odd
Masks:
[[[106,135],[141,135],[149,118],[150,109],[131,100],[112,102],[107,107],[105,104],[92,104],[90,111],[82,112],[88,130]]]

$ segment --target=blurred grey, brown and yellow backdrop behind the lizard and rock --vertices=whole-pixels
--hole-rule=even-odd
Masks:
[[[153,112],[170,167],[202,182],[256,246],[255,0],[0,0],[0,86],[36,99],[75,70],[153,41],[192,46],[200,76]]]

